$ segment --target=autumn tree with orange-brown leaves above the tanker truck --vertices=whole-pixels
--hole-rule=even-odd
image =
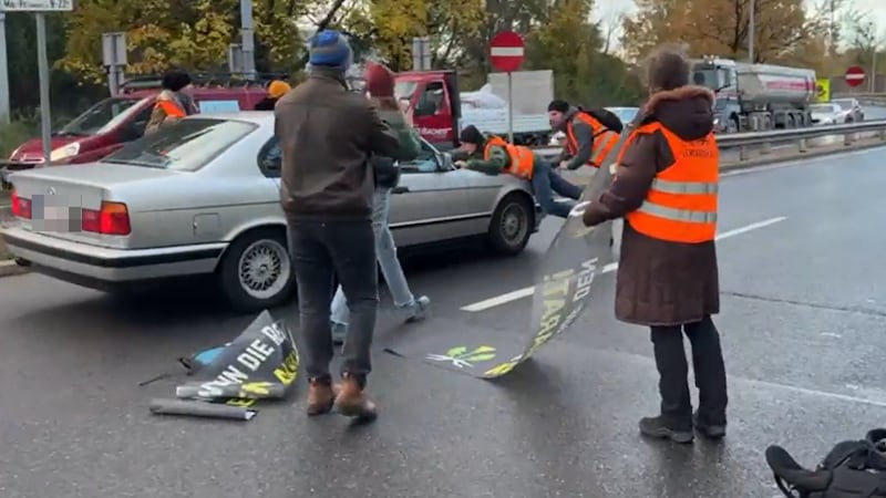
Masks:
[[[803,0],[754,0],[754,61],[796,59],[807,40],[821,39],[826,23]],[[751,0],[636,0],[625,20],[622,43],[642,58],[666,42],[683,42],[692,55],[748,58]]]

